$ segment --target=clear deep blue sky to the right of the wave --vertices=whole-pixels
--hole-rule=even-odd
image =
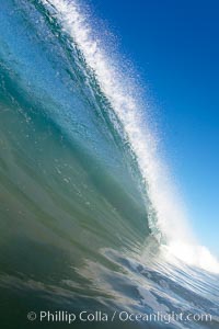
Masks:
[[[219,1],[90,2],[149,86],[194,231],[219,256]]]

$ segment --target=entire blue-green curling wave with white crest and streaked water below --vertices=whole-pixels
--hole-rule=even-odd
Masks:
[[[27,311],[42,309],[210,313],[169,328],[218,326],[218,276],[159,246],[183,224],[117,76],[73,1],[1,1],[4,328],[30,328]]]

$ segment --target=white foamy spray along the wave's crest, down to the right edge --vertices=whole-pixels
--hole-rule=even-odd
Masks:
[[[114,59],[100,46],[87,15],[81,13],[76,0],[42,0],[42,2],[48,10],[51,5],[56,9],[56,12],[51,10],[51,14],[56,15],[62,30],[73,38],[123,123],[142,178],[147,182],[147,191],[155,211],[157,226],[168,238],[168,249],[173,250],[177,258],[189,264],[219,272],[219,264],[212,256],[204,247],[194,246],[181,201],[170,182],[168,170],[157,156],[155,138],[148,127],[142,128],[143,118],[140,114],[142,111],[139,109],[135,88],[129,88],[128,83],[124,82],[125,77],[114,65]]]

